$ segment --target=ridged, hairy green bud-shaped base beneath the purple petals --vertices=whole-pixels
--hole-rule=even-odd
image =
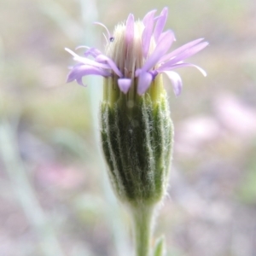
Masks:
[[[143,96],[134,88],[134,99],[115,79],[105,79],[105,89],[116,96],[101,106],[102,148],[113,189],[120,201],[154,205],[166,193],[173,139],[161,76]]]

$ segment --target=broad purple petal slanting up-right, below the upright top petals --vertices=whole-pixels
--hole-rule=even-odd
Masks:
[[[166,54],[166,51],[171,47],[174,39],[172,31],[165,33],[160,42],[156,45],[152,55],[148,57],[148,60],[145,62],[142,71],[148,71],[151,67],[154,67],[155,64],[160,60],[162,55]]]

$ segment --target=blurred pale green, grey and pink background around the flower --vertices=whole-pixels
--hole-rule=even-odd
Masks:
[[[130,219],[98,147],[102,80],[66,84],[64,47],[103,49],[110,30],[169,7],[177,42],[210,45],[166,83],[175,147],[154,237],[167,256],[256,255],[256,5],[253,0],[1,0],[0,255],[131,255]],[[82,51],[81,51],[82,52]]]

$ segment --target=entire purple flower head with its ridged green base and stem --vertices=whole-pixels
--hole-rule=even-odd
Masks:
[[[101,102],[102,152],[108,164],[113,190],[131,210],[137,256],[149,256],[155,211],[166,195],[173,146],[170,117],[162,74],[172,81],[175,95],[182,80],[173,70],[195,67],[183,62],[207,46],[203,39],[168,52],[175,41],[171,30],[164,32],[168,10],[155,16],[148,12],[142,21],[129,15],[125,23],[107,31],[104,54],[87,48],[84,56],[67,51],[78,64],[72,67],[67,82],[83,84],[86,75],[104,77]],[[163,243],[156,244],[154,255],[162,255]]]

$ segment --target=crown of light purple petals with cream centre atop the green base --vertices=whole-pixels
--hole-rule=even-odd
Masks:
[[[133,15],[129,15],[125,24],[115,27],[113,35],[108,32],[106,53],[99,49],[86,47],[84,56],[73,55],[74,61],[79,64],[72,67],[68,74],[67,82],[76,80],[84,85],[82,78],[94,74],[117,80],[119,90],[127,93],[135,88],[139,95],[143,95],[154,81],[156,76],[165,73],[172,81],[175,95],[182,90],[182,79],[173,70],[180,67],[195,67],[206,76],[206,72],[191,63],[183,62],[191,55],[195,55],[207,46],[203,38],[184,44],[178,49],[168,53],[175,36],[172,30],[164,32],[168,9],[164,8],[159,16],[155,17],[156,10],[148,12],[143,21],[134,21]]]

